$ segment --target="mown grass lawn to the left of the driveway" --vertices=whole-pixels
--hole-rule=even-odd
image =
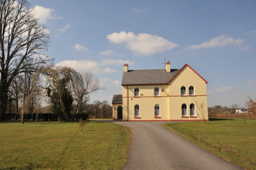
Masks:
[[[0,169],[121,169],[129,141],[108,122],[0,123]]]

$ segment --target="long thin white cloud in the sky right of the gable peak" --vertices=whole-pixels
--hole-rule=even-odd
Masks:
[[[211,39],[210,41],[203,42],[199,45],[191,45],[190,49],[200,49],[200,48],[212,48],[212,47],[223,47],[228,44],[240,45],[242,44],[243,39],[233,39],[228,37],[226,34],[222,34],[216,38]],[[184,48],[188,49],[188,47]]]

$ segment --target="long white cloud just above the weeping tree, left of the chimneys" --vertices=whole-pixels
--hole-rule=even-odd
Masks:
[[[91,71],[93,73],[116,73],[117,70],[104,67],[98,61],[91,60],[64,60],[56,64],[56,66],[69,66],[78,71]]]

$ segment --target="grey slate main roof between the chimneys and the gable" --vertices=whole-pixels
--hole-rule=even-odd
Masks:
[[[123,73],[122,85],[167,84],[180,69],[128,70]]]

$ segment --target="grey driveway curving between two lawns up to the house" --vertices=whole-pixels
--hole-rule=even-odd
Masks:
[[[169,122],[114,123],[128,126],[132,130],[129,157],[124,170],[242,169],[162,127],[162,124]]]

